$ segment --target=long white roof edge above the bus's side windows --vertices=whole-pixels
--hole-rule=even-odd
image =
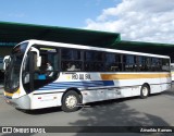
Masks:
[[[36,39],[25,40],[23,42],[26,42],[26,41],[28,41],[30,45],[35,45],[36,44],[36,45],[42,45],[42,46],[85,49],[85,50],[96,50],[96,51],[115,52],[115,53],[123,53],[123,54],[127,54],[128,53],[128,54],[135,54],[135,55],[148,55],[148,57],[167,58],[167,59],[170,58],[167,55],[160,55],[160,54],[152,54],[152,53],[125,51],[125,50],[99,48],[99,47],[91,47],[91,46],[84,46],[84,45],[74,45],[74,44],[53,42],[53,41],[45,41],[45,40],[36,40]]]

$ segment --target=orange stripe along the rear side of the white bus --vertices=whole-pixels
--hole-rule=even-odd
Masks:
[[[167,78],[171,74],[101,74],[102,79]]]

